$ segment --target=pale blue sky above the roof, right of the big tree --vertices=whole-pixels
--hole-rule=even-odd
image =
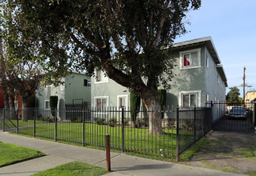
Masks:
[[[189,33],[174,42],[210,36],[225,70],[228,87],[238,86],[243,96],[243,70],[246,66],[246,92],[256,90],[256,1],[201,0],[199,10],[190,11]],[[251,86],[251,87],[249,87]]]

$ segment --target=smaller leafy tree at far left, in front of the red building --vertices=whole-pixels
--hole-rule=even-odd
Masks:
[[[42,80],[39,40],[30,37],[37,30],[15,1],[0,0],[0,7],[1,81],[10,97],[22,96],[22,121],[27,121],[28,99]]]

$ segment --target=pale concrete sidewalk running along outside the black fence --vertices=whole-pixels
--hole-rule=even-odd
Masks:
[[[0,131],[0,142],[11,143],[17,146],[25,146],[40,150],[45,157],[35,158],[26,162],[19,162],[11,166],[0,168],[2,175],[30,175],[42,170],[51,169],[67,162],[86,162],[91,165],[106,167],[106,154],[102,150],[93,150],[86,147],[71,146],[58,142],[49,142],[36,138],[8,134]],[[185,166],[172,162],[161,162],[152,159],[138,158],[126,154],[111,153],[112,172],[106,176],[119,175],[243,175],[209,170],[205,168]]]

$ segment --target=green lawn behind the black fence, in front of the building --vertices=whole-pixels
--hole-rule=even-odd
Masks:
[[[33,134],[33,126],[20,129],[19,133]],[[55,138],[55,124],[38,124],[35,129],[38,137]],[[105,135],[109,134],[111,146],[115,149],[121,149],[122,129],[120,126],[107,126],[86,123],[84,126],[84,141],[86,145],[105,145]],[[83,142],[83,124],[82,123],[58,123],[57,139],[69,142]],[[175,154],[176,152],[176,130],[165,130],[165,134],[149,135],[148,129],[124,128],[124,149],[133,150],[136,153],[143,154]]]

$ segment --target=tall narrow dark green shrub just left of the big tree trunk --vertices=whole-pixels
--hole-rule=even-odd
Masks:
[[[132,122],[136,121],[137,114],[140,111],[140,96],[135,91],[130,93],[130,114]]]

